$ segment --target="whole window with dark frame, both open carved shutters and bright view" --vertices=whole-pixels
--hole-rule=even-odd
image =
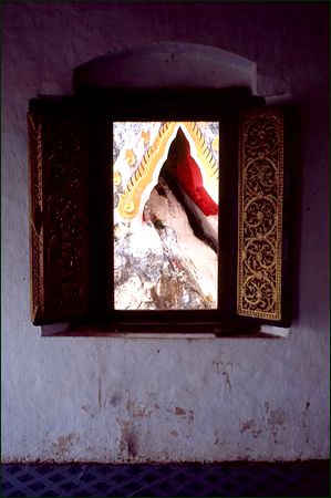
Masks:
[[[247,89],[30,101],[33,323],[287,325],[283,115]]]

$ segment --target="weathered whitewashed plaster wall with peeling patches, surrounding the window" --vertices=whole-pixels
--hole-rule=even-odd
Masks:
[[[257,62],[302,111],[287,339],[41,338],[29,321],[28,101],[157,41]],[[329,456],[329,2],[2,2],[2,458],[211,461]],[[278,87],[276,87],[278,86]]]

